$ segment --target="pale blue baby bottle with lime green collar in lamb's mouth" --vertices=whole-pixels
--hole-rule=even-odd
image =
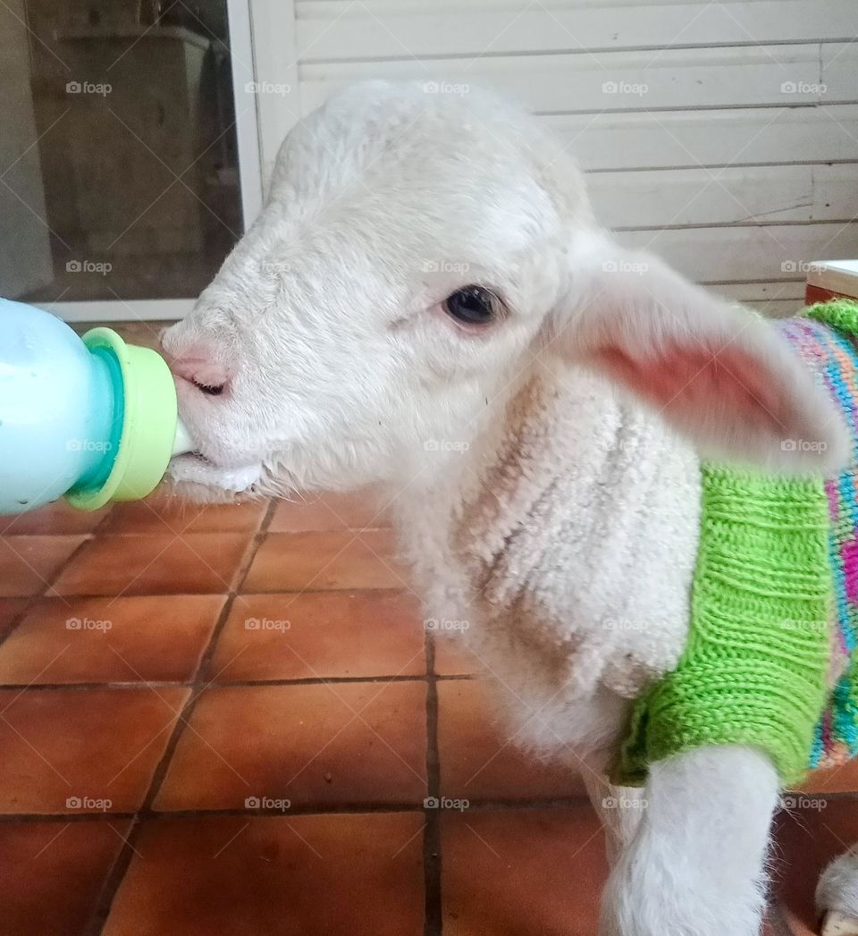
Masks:
[[[0,299],[0,514],[139,500],[194,447],[155,351]]]

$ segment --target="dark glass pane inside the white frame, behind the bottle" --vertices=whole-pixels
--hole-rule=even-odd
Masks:
[[[0,295],[196,296],[241,234],[226,0],[0,5]]]

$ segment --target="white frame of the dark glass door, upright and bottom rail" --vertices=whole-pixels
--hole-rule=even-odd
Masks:
[[[236,137],[239,153],[241,221],[244,230],[262,207],[262,156],[260,117],[262,95],[251,93],[256,80],[252,7],[257,0],[226,0]],[[284,7],[292,4],[284,4]],[[254,10],[255,13],[255,10]],[[294,26],[290,26],[290,33]],[[256,33],[258,36],[258,33]],[[194,307],[193,299],[109,300],[37,303],[66,322],[129,322],[182,318]]]

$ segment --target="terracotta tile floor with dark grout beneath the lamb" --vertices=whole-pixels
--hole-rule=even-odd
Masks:
[[[595,932],[580,778],[505,742],[366,497],[0,530],[4,934]],[[814,931],[856,791],[812,778],[780,818],[771,936]]]

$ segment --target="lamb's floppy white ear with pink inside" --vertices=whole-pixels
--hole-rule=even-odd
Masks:
[[[705,455],[811,472],[849,461],[835,404],[762,317],[611,241],[576,254],[548,329],[564,358],[609,375]]]

